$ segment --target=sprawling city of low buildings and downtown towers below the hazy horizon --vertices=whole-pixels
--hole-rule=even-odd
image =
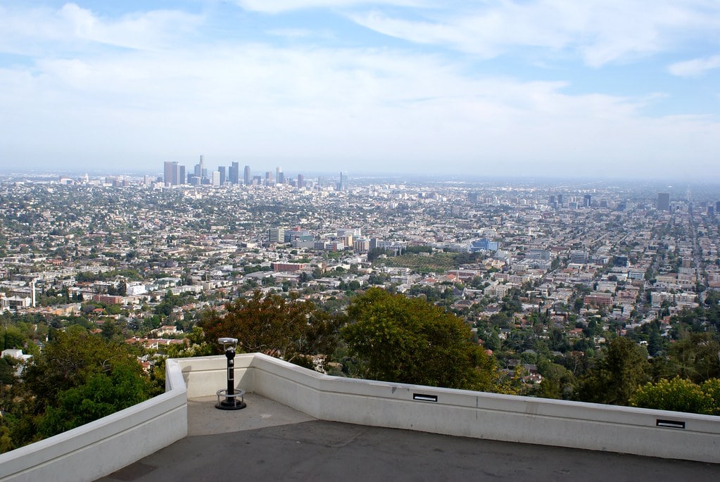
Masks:
[[[190,295],[161,319],[181,337],[184,314],[255,289],[320,303],[370,285],[434,290],[471,323],[520,291],[518,327],[544,310],[572,337],[570,313],[629,329],[720,289],[714,192],[361,178],[347,186],[342,176],[305,188],[280,170],[266,175],[272,183],[248,183],[247,167],[240,183],[236,164],[225,177],[208,175],[202,159],[188,174],[166,163],[159,185],[147,176],[0,180],[0,309],[85,310],[149,337],[153,308],[168,293]],[[458,262],[436,263],[444,255]],[[102,307],[110,305],[122,311]]]

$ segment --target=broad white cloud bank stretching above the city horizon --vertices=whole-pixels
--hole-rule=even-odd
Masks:
[[[271,159],[287,170],[439,164],[550,175],[602,165],[631,175],[649,160],[672,172],[689,146],[698,160],[720,149],[718,124],[643,117],[647,99],[468,78],[462,65],[392,50],[225,45],[45,60],[35,69],[0,71],[0,105],[12,112],[0,119],[0,147],[57,162],[139,159],[135,167],[146,167],[202,151],[213,163]]]

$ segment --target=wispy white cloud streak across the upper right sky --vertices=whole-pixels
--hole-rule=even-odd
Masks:
[[[364,27],[412,42],[485,57],[513,47],[569,50],[593,67],[652,55],[720,29],[720,4],[703,0],[510,0],[420,14],[426,19],[377,10],[349,15]]]

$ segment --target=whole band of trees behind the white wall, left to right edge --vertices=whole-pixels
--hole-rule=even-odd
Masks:
[[[168,305],[179,302],[171,298]],[[513,312],[512,297],[505,304]],[[720,347],[708,332],[688,334],[651,361],[647,350],[629,337],[613,338],[591,356],[575,353],[564,365],[544,360],[538,363],[544,381],[528,391],[521,364],[514,373],[500,370],[462,318],[424,299],[369,288],[343,311],[324,308],[297,294],[264,296],[256,291],[206,312],[189,344],[166,355],[219,353],[217,338],[230,336],[240,340],[245,352],[267,353],[308,368],[321,365],[342,376],[720,414]],[[529,329],[545,323],[538,313]],[[17,345],[22,331],[9,327],[3,335],[6,345]],[[138,363],[138,348],[122,344],[112,333],[90,335],[73,325],[64,332],[53,329],[50,337],[42,354],[35,353],[25,368],[23,383],[14,379],[12,360],[0,363],[1,450],[163,391],[162,363],[148,377]]]

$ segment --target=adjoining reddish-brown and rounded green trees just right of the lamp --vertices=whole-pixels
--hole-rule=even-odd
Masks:
[[[246,352],[306,366],[312,355],[331,355],[325,361],[341,362],[350,376],[473,390],[488,390],[498,378],[494,361],[462,319],[380,288],[353,299],[346,314],[256,292],[228,304],[224,314],[210,312],[201,326],[209,344],[236,337]]]

